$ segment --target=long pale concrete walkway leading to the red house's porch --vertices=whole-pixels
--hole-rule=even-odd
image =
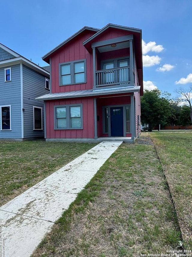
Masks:
[[[3,257],[28,257],[122,141],[102,142],[0,207]]]

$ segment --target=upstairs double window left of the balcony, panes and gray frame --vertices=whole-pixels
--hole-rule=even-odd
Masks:
[[[86,83],[86,59],[59,64],[60,86]]]

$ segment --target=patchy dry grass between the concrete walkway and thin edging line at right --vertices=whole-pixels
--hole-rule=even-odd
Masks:
[[[165,254],[176,249],[179,240],[153,146],[123,143],[53,225],[32,257]]]

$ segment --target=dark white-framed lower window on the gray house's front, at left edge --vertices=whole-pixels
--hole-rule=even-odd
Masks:
[[[1,130],[11,130],[11,105],[0,106]]]

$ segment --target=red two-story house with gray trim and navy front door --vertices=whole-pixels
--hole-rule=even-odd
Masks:
[[[140,29],[84,27],[43,60],[50,93],[37,99],[44,100],[46,141],[133,142],[143,95]]]

